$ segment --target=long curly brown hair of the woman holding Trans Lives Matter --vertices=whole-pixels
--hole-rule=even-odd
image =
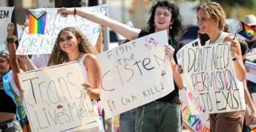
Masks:
[[[59,32],[57,39],[55,40],[55,46],[53,47],[53,51],[51,57],[49,58],[48,66],[59,65],[68,61],[68,54],[64,52],[60,47],[60,36],[63,31],[69,31],[76,36],[76,39],[80,39],[80,44],[78,44],[78,49],[81,53],[92,53],[94,55],[97,54],[96,49],[90,44],[86,36],[82,33],[81,30],[74,27],[66,27]]]

